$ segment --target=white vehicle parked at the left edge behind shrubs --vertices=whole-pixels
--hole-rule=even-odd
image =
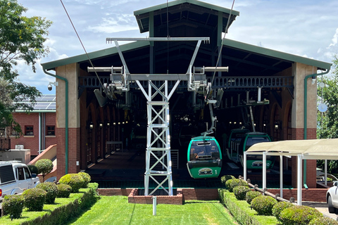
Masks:
[[[0,201],[6,195],[17,195],[39,184],[37,174],[31,174],[20,161],[0,162]]]

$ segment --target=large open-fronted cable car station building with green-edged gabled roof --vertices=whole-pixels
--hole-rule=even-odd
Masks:
[[[107,143],[131,149],[134,127],[148,129],[156,143],[165,139],[166,145],[160,146],[168,150],[170,143],[165,158],[170,160],[170,148],[178,149],[184,162],[187,146],[180,145],[182,127],[206,131],[206,123],[211,124],[206,94],[218,100],[213,135],[223,149],[230,130],[243,126],[265,132],[274,141],[316,139],[315,78],[329,72],[330,63],[223,40],[227,23],[231,32],[239,12],[230,15],[230,9],[202,1],[171,1],[168,8],[162,4],[134,15],[140,32],[149,32],[149,38],[129,39],[132,42],[123,45],[118,44],[121,39],[108,38],[115,46],[89,53],[93,65],[86,54],[42,65],[58,82],[58,179],[105,160],[111,154]],[[215,68],[220,51],[218,67],[228,67],[227,72],[208,69]],[[223,97],[218,95],[220,89]],[[149,114],[150,107],[157,115]],[[165,120],[165,129],[162,124],[149,126],[151,119]],[[146,151],[146,146],[142,148]],[[284,162],[292,171],[294,187],[296,163],[294,158]],[[315,188],[315,160],[308,160],[306,167],[307,185]],[[231,174],[224,161],[223,174]]]

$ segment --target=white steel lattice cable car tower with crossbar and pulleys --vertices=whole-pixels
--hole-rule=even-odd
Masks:
[[[106,97],[110,98],[113,93],[121,93],[122,91],[130,91],[130,82],[136,82],[147,100],[147,140],[146,140],[146,172],[144,173],[144,195],[153,195],[156,190],[163,188],[168,195],[173,195],[173,178],[171,170],[171,154],[170,154],[170,134],[169,134],[169,100],[173,96],[175,89],[180,81],[187,81],[188,91],[194,91],[206,86],[206,76],[204,68],[199,68],[199,72],[193,72],[193,64],[201,41],[209,42],[209,37],[149,37],[137,39],[118,39],[107,38],[108,43],[114,42],[118,54],[123,63],[123,67],[119,68],[88,68],[88,72],[111,71],[109,84],[104,84],[104,92]],[[187,73],[182,75],[171,74],[130,74],[123,53],[120,50],[118,41],[197,41],[192,59],[190,60]],[[195,70],[195,69],[194,69]],[[227,68],[223,68],[227,70]],[[178,79],[177,79],[178,77]],[[171,90],[168,89],[168,81],[175,80],[175,85]],[[140,81],[148,82],[148,92],[144,89]],[[100,95],[100,94],[99,94]],[[160,96],[157,97],[156,96]],[[101,96],[101,95],[100,95]],[[154,99],[156,98],[156,99]],[[157,100],[159,99],[159,100]],[[155,158],[155,162],[151,163],[151,158]],[[158,169],[160,167],[160,169]],[[151,193],[149,193],[149,182],[151,180],[157,184]],[[168,185],[168,188],[165,187]]]

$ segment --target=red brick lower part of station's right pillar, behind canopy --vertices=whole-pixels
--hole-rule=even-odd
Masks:
[[[316,129],[307,129],[307,139],[316,139]],[[293,128],[292,129],[292,139],[293,140],[303,140],[304,139],[304,129],[302,128]],[[306,160],[306,185],[308,188],[315,188],[316,183],[316,160]],[[303,170],[303,166],[302,166]],[[301,177],[303,183],[303,176]],[[292,187],[297,187],[297,157],[292,157]]]

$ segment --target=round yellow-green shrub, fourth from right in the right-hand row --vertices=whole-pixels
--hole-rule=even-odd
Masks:
[[[261,195],[253,198],[251,201],[251,207],[255,210],[258,215],[271,216],[273,214],[273,206],[277,203],[275,198]]]

